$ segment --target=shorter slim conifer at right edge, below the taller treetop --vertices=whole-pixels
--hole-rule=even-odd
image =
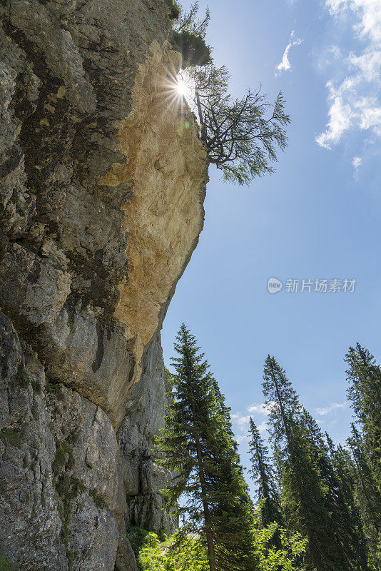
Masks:
[[[353,423],[351,428],[351,435],[347,439],[347,443],[353,458],[352,475],[355,480],[355,502],[367,539],[370,565],[372,569],[379,570],[381,567],[381,495],[370,468],[362,435]]]

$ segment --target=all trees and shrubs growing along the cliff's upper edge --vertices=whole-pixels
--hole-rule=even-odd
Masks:
[[[183,79],[192,88],[193,110],[210,163],[222,171],[224,181],[238,184],[273,173],[271,163],[277,161],[278,148],[285,149],[285,126],[290,123],[282,92],[273,104],[261,88],[233,98],[228,91],[228,69],[215,66],[212,49],[206,44],[209,10],[198,19],[198,1],[188,11],[174,0],[166,1],[173,14],[171,43],[183,56]]]

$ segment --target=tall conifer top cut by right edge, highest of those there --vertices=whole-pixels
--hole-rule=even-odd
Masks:
[[[381,492],[381,368],[360,343],[350,347],[345,362],[350,382],[347,393],[362,427],[365,450]]]

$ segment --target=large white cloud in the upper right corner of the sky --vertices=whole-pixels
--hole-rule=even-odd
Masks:
[[[381,138],[381,2],[380,0],[326,0],[330,14],[352,18],[353,34],[363,42],[360,54],[343,59],[345,79],[327,81],[329,120],[316,137],[327,149],[352,129],[370,130]]]

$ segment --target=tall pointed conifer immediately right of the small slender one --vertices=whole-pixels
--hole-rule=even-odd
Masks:
[[[347,571],[340,568],[340,546],[327,512],[327,487],[306,438],[298,395],[285,370],[270,355],[265,361],[263,379],[286,525],[308,538],[307,570]]]

